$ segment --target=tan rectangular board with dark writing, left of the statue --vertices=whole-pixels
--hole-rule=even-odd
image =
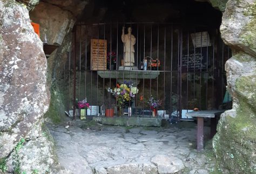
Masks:
[[[107,40],[91,39],[91,70],[106,70]]]

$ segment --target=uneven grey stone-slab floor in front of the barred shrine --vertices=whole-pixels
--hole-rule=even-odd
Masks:
[[[48,125],[65,173],[211,173],[211,140],[196,150],[196,124],[104,126],[77,120]],[[206,139],[210,127],[205,127]]]

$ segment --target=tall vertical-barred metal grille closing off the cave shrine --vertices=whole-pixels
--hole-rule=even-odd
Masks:
[[[118,70],[124,57],[123,26],[131,27],[136,38],[134,66],[138,70]],[[103,78],[98,75],[99,71],[91,70],[91,39],[107,40],[107,52],[116,52],[114,68],[100,70]],[[134,111],[132,117],[152,117],[143,112],[149,109],[151,96],[161,100],[158,110],[166,111],[170,119],[178,116],[179,120],[183,110],[194,107],[218,108],[223,105],[226,93],[224,64],[230,56],[231,51],[216,28],[184,29],[166,23],[80,24],[75,28],[64,67],[64,78],[69,82],[63,86],[69,93],[67,109],[75,108],[76,98],[86,98],[90,105],[111,107],[116,101],[106,88],[129,80],[139,89],[129,102]],[[159,60],[160,67],[140,70],[145,57]]]

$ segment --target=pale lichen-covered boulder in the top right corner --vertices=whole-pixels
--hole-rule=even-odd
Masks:
[[[225,44],[256,57],[254,0],[228,1],[220,26]],[[236,51],[237,52],[237,51]]]

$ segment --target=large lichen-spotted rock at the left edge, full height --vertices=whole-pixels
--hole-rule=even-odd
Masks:
[[[0,158],[8,156],[10,172],[51,171],[52,146],[41,130],[50,103],[42,41],[14,0],[0,1],[0,23]]]

